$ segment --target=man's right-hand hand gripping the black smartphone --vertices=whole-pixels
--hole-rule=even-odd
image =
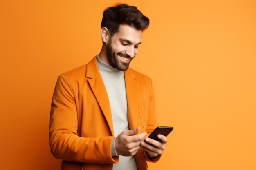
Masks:
[[[165,144],[167,143],[167,137],[164,135],[157,135],[157,137],[161,140],[161,142],[156,141],[154,139],[146,137],[144,142],[141,142],[141,146],[148,153],[150,157],[157,157],[162,154],[163,150],[165,150]]]

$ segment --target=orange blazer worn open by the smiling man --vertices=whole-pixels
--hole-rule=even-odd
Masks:
[[[50,115],[50,150],[63,159],[62,170],[112,170],[119,157],[111,156],[112,115],[108,94],[94,57],[88,64],[58,77]],[[157,127],[152,81],[131,68],[124,71],[130,129],[151,133]],[[141,148],[135,155],[138,170],[150,159]]]

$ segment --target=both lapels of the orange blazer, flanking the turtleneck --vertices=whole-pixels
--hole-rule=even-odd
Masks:
[[[86,67],[86,77],[92,91],[101,107],[101,110],[108,122],[108,126],[112,135],[113,121],[110,108],[110,102],[108,99],[108,93],[106,91],[103,79],[97,66],[97,56],[95,56]],[[126,96],[128,105],[128,123],[130,129],[137,128],[137,114],[138,114],[138,101],[139,101],[139,87],[136,76],[132,73],[132,69],[128,68],[124,71],[125,84],[126,84]]]

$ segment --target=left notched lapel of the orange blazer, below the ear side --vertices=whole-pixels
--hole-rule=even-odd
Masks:
[[[110,108],[110,102],[108,99],[108,93],[106,91],[103,79],[99,73],[99,69],[97,66],[97,56],[94,57],[88,64],[86,68],[86,77],[88,77],[88,82],[92,91],[101,107],[103,115],[105,116],[108,126],[110,128],[111,134],[114,135],[113,130],[113,121],[112,121],[112,114]]]

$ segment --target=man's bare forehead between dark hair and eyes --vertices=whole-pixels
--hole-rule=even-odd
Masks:
[[[134,44],[141,42],[142,30],[137,30],[128,25],[120,25],[119,31],[113,35],[114,39],[120,40],[125,39]]]

